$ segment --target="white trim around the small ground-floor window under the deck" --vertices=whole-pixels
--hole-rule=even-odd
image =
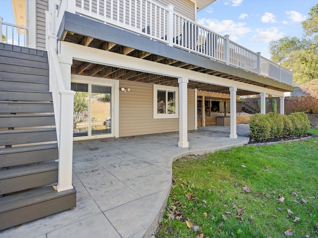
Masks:
[[[158,90],[175,92],[175,114],[158,114],[157,112],[157,95]],[[179,118],[179,88],[154,84],[154,119],[162,118]]]

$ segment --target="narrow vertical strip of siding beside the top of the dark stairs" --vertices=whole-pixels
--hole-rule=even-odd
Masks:
[[[45,11],[48,10],[47,0],[36,0],[36,48],[45,50]]]

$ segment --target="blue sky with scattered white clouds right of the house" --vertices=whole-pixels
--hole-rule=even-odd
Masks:
[[[270,58],[271,40],[303,36],[302,22],[318,0],[217,0],[198,12],[197,22]]]

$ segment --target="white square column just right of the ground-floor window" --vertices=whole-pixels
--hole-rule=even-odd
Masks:
[[[189,147],[188,142],[188,82],[189,79],[182,77],[179,83],[179,143],[178,147]]]

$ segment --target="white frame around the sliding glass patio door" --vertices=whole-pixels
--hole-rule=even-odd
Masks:
[[[94,136],[89,136],[89,138],[87,136],[84,136],[84,137],[85,137],[85,140],[94,139],[94,138],[103,138],[103,137],[114,137],[114,136],[119,137],[119,80],[71,74],[71,81],[82,82],[82,83],[98,83],[101,85],[106,84],[106,85],[113,86],[114,89],[112,93],[114,94],[114,98],[113,98],[114,103],[112,104],[111,113],[112,113],[112,119],[113,118],[115,119],[113,121],[114,133],[110,135],[107,135],[107,134],[94,135]],[[73,137],[73,140],[80,140],[80,139],[83,139],[83,138]]]

